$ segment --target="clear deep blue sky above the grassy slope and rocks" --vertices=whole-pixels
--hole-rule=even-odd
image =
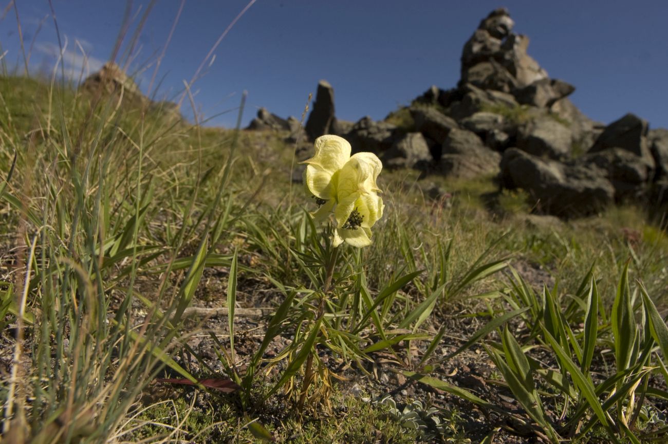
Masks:
[[[92,69],[109,59],[128,3],[52,1],[69,71],[78,73],[81,51]],[[337,117],[380,120],[430,85],[454,87],[464,43],[483,17],[504,6],[514,31],[530,37],[528,53],[550,77],[576,87],[571,99],[585,114],[607,124],[633,112],[651,128],[668,127],[665,0],[257,0],[213,51],[214,59],[205,60],[249,1],[184,2],[157,75],[157,97],[178,100],[183,81],[204,61],[204,75],[192,85],[196,108],[204,118],[224,113],[208,124],[234,126],[242,91],[248,92],[244,126],[262,106],[299,118],[319,79],[335,89]],[[130,4],[122,53],[149,5]],[[180,5],[158,0],[132,50],[130,70],[145,92]],[[17,0],[17,10],[26,51],[34,40],[30,69],[45,69],[59,52],[49,3]],[[7,0],[0,1],[0,17],[3,60],[23,66],[16,11]],[[182,111],[192,120],[187,101]]]

